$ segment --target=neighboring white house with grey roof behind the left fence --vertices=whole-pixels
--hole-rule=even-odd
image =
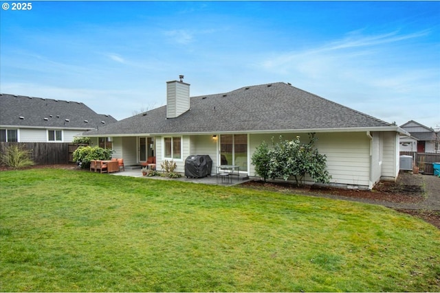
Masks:
[[[84,131],[115,121],[80,102],[0,94],[0,141],[72,142]]]

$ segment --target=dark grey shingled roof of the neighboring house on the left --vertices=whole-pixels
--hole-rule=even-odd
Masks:
[[[117,121],[80,102],[0,94],[0,125],[89,130]]]

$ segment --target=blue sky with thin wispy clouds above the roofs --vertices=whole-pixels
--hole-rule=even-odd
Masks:
[[[124,119],[290,82],[398,125],[440,126],[438,1],[32,1],[1,9],[0,91]]]

